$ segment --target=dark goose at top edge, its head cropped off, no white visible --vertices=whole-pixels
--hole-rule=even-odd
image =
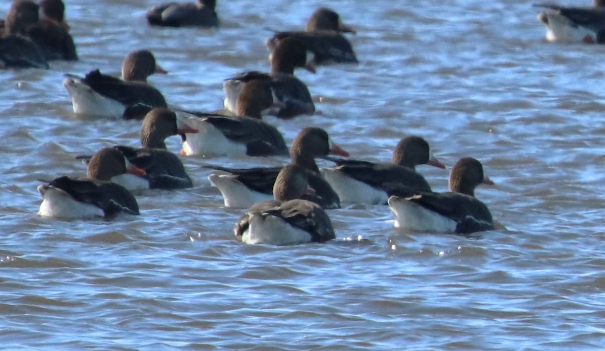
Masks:
[[[169,2],[150,8],[147,21],[163,27],[218,27],[216,5],[216,0]]]

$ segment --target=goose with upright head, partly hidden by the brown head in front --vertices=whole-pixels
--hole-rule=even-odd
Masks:
[[[270,58],[270,74],[261,72],[244,72],[225,80],[224,106],[234,112],[237,97],[247,82],[257,79],[270,82],[277,99],[283,107],[273,112],[279,118],[293,118],[297,115],[312,115],[315,105],[305,83],[294,76],[294,69],[302,67],[315,73],[315,68],[307,62],[307,50],[294,38],[281,40]]]

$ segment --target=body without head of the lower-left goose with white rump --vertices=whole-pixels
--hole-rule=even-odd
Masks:
[[[139,214],[139,204],[122,185],[94,179],[61,176],[38,186],[41,216],[64,219]]]

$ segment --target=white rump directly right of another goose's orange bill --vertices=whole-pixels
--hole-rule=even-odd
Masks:
[[[185,120],[190,127],[198,130],[195,134],[186,134],[183,143],[183,153],[187,156],[227,156],[246,155],[246,145],[227,139],[223,133],[211,123],[201,118],[190,117]]]

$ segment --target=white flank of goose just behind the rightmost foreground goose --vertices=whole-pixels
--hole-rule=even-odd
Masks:
[[[353,179],[341,170],[328,168],[319,172],[338,194],[341,202],[369,205],[387,203],[388,195],[383,190]]]

